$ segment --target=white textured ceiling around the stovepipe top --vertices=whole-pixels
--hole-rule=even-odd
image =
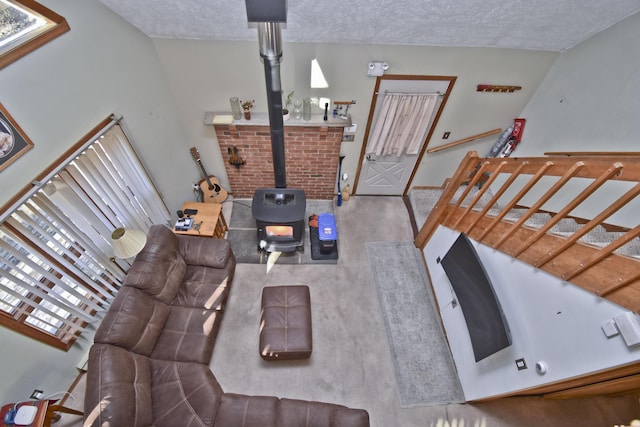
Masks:
[[[101,0],[150,37],[256,40],[243,0]],[[640,11],[639,0],[290,0],[288,42],[562,51]]]

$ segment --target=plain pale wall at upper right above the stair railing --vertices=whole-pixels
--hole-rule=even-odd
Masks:
[[[640,13],[562,53],[527,104],[518,156],[638,151]]]

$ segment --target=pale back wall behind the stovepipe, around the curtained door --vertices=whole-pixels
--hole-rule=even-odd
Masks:
[[[387,74],[458,77],[430,144],[437,146],[509,126],[557,57],[553,52],[512,49],[287,43],[286,30],[282,33],[281,77],[285,94],[295,90],[295,97],[300,98],[356,100],[349,111],[353,122],[358,124],[358,132],[355,141],[342,145],[342,154],[346,156],[342,169],[351,177],[352,188],[376,82],[375,77],[366,75],[369,61],[387,61],[390,65]],[[198,146],[208,172],[216,175],[228,189],[223,167],[228,156],[221,155],[213,128],[204,126],[202,121],[206,111],[228,114],[231,96],[255,99],[255,111],[267,111],[264,69],[257,40],[154,39],[153,42],[189,140]],[[314,58],[318,59],[329,83],[327,89],[309,87]],[[508,94],[477,92],[476,85],[481,83],[516,84],[523,89]],[[448,140],[441,139],[445,131],[451,132]],[[495,138],[497,135],[425,156],[413,184],[442,184],[467,151],[485,154]],[[242,152],[239,154],[242,156]],[[195,165],[193,167],[195,169]]]

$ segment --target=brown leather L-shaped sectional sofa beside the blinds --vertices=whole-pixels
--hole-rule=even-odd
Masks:
[[[365,410],[225,393],[209,369],[229,242],[154,225],[89,352],[85,426],[365,427]]]

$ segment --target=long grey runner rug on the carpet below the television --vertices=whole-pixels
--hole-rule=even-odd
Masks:
[[[421,254],[412,242],[367,243],[402,407],[464,402]]]

